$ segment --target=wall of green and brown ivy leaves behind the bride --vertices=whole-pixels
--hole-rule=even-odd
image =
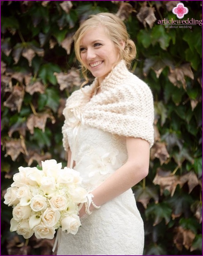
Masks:
[[[1,255],[51,255],[53,240],[10,232],[3,203],[19,166],[56,159],[65,100],[82,82],[73,34],[89,14],[112,12],[137,46],[133,73],[152,89],[149,175],[133,187],[144,255],[202,255],[202,26],[166,28],[179,1],[1,1]],[[202,19],[202,1],[183,1]],[[115,252],[116,253],[116,252]]]

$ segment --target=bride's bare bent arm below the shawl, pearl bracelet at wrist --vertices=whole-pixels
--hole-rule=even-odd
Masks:
[[[116,170],[107,180],[91,193],[94,195],[95,205],[102,205],[107,201],[124,193],[145,178],[149,172],[150,145],[140,138],[126,137],[128,160]],[[90,210],[94,209],[91,205]],[[83,205],[80,217],[85,214]]]

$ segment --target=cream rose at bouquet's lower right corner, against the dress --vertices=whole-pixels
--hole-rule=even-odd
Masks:
[[[77,215],[67,216],[61,220],[62,231],[66,230],[68,233],[71,233],[73,235],[77,233],[80,226],[80,218]]]

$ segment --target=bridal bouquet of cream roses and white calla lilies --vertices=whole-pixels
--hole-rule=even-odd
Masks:
[[[80,187],[79,172],[56,160],[42,161],[42,167],[19,167],[13,183],[4,195],[4,203],[13,207],[10,231],[25,239],[54,238],[59,227],[76,234],[81,226],[78,204],[87,191]]]

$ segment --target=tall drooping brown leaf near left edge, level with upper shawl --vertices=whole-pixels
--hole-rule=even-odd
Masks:
[[[21,111],[21,106],[24,99],[24,87],[15,85],[13,87],[12,93],[8,96],[6,101],[4,102],[4,106],[13,110],[18,110],[18,113]]]

